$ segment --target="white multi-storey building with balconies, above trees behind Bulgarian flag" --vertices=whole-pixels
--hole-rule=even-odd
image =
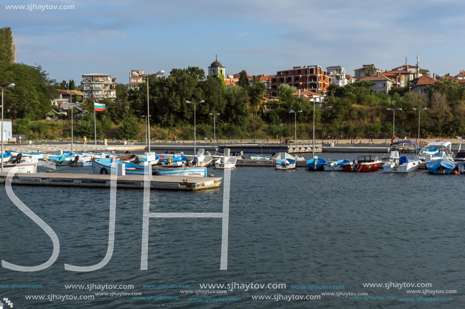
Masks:
[[[88,99],[116,98],[116,78],[108,74],[82,75],[82,93],[84,101]]]

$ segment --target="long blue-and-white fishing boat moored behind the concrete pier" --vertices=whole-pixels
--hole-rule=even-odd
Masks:
[[[116,160],[115,166],[112,166],[113,159],[101,158],[93,159],[92,161],[92,172],[94,174],[108,174],[112,171],[116,172],[118,164],[124,164],[126,174],[128,175],[144,175],[145,166],[133,164],[130,162],[123,162]],[[198,167],[173,167],[173,168],[164,168],[164,167],[153,167],[152,166],[152,175],[160,176],[197,176],[197,177],[206,177],[207,169],[204,166]]]

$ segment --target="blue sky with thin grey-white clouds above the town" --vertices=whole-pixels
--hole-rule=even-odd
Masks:
[[[276,74],[293,66],[405,63],[431,73],[465,69],[465,1],[16,1],[0,0],[17,62],[41,65],[61,81],[103,73],[129,82],[145,73],[198,66],[218,55],[226,74]],[[7,9],[24,5],[26,9]],[[39,6],[48,5],[44,9]],[[59,10],[50,6],[74,6]],[[27,6],[30,8],[27,9]]]

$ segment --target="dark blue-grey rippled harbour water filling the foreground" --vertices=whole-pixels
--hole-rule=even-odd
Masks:
[[[321,155],[329,157],[329,154]],[[331,155],[334,158],[354,155]],[[73,172],[91,172],[78,167]],[[222,176],[210,168],[208,173]],[[220,271],[221,218],[151,218],[148,270],[140,270],[142,190],[118,189],[115,248],[98,271],[65,271],[63,264],[90,266],[106,253],[110,189],[14,186],[15,194],[57,234],[58,259],[40,272],[0,270],[1,284],[41,284],[42,288],[0,289],[17,307],[57,308],[300,308],[300,307],[464,307],[462,175],[309,172],[267,167],[231,171],[228,270]],[[1,259],[22,266],[48,260],[52,242],[0,188]],[[152,212],[221,212],[220,189],[199,192],[152,191]],[[285,283],[280,289],[235,289],[227,294],[184,294],[204,283]],[[449,302],[399,301],[406,288],[363,287],[363,283],[431,283]],[[178,299],[136,300],[95,296],[94,300],[26,300],[24,295],[95,295],[67,284],[132,284],[142,296]],[[189,285],[157,289],[143,285]],[[292,289],[293,285],[344,286],[337,290]],[[424,289],[424,288],[423,288]],[[205,289],[204,289],[205,290]],[[207,289],[208,290],[208,289]],[[217,290],[217,289],[211,289]],[[368,292],[396,300],[355,300],[321,296],[315,300],[253,300],[252,295],[321,295]],[[188,297],[240,298],[231,302],[190,301]],[[16,306],[15,306],[16,307]]]

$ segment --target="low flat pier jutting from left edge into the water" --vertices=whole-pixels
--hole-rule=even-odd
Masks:
[[[7,173],[0,173],[0,184],[5,184]],[[110,188],[110,174],[79,173],[16,173],[12,178],[14,185],[66,186]],[[153,176],[150,188],[155,190],[194,191],[219,188],[223,182],[220,177],[192,176]],[[143,175],[118,176],[117,188],[143,189]]]

